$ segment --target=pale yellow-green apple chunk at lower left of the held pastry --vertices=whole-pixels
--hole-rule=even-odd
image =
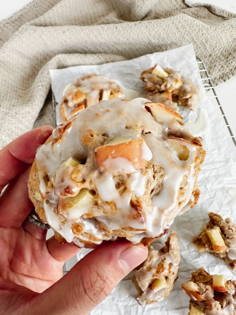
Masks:
[[[59,198],[59,213],[70,219],[78,219],[91,209],[93,199],[93,194],[83,188],[75,197]]]

